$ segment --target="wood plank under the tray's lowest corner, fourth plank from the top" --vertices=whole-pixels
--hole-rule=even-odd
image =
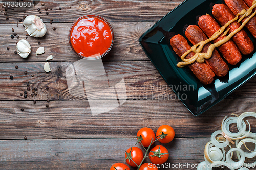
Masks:
[[[210,137],[231,113],[256,111],[256,99],[224,99],[195,117],[178,100],[127,100],[96,116],[88,101],[1,101],[0,139],[133,138],[142,127],[168,124],[176,137]],[[105,104],[102,102],[102,104]],[[24,111],[20,111],[24,108]],[[249,119],[252,132],[256,120]],[[236,127],[232,127],[236,130]]]

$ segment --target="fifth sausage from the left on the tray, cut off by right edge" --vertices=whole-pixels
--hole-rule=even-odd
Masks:
[[[225,0],[228,8],[237,15],[242,10],[248,10],[249,7],[245,4],[243,0]],[[242,22],[248,17],[245,17]],[[246,23],[245,27],[251,32],[251,34],[256,38],[256,17],[252,17],[249,22]]]

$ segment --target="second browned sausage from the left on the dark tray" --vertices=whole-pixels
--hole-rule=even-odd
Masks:
[[[207,40],[206,35],[198,26],[188,26],[185,35],[193,45]],[[210,43],[205,44],[201,52],[206,53],[209,46]],[[211,58],[206,59],[205,62],[217,76],[225,76],[228,72],[228,65],[222,60],[219,52],[216,49],[212,53]]]

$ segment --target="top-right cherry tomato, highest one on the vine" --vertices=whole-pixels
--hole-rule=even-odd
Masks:
[[[162,126],[160,126],[158,128],[158,130],[157,130],[157,133],[156,133],[157,139],[160,138],[159,135],[161,135],[162,132],[164,134],[167,134],[167,136],[165,136],[165,138],[159,140],[159,142],[161,142],[161,143],[169,143],[170,141],[172,141],[174,139],[175,133],[174,133],[174,129],[171,126],[169,126],[169,125],[162,125]]]

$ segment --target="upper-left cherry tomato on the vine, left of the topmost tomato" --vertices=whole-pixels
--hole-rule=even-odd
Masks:
[[[156,135],[150,128],[141,128],[137,133],[137,137],[139,137],[140,135],[142,137],[141,143],[144,147],[148,147],[152,139],[152,141],[156,140]]]

